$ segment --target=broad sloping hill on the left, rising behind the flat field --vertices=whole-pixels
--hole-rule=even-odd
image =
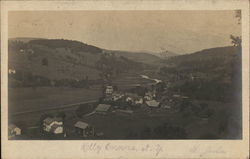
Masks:
[[[23,39],[9,40],[9,69],[16,71],[10,79],[17,85],[31,85],[31,81],[93,82],[107,74],[112,78],[124,71],[143,68],[141,63],[79,41]]]

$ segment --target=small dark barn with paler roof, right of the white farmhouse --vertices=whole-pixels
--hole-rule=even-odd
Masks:
[[[85,123],[83,121],[78,121],[75,123],[75,130],[76,134],[82,136],[82,137],[92,137],[94,136],[94,128],[90,126],[88,123]]]

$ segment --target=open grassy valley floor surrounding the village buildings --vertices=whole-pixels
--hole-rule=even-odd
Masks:
[[[138,81],[138,76],[121,78],[116,83],[126,88],[129,81]],[[149,81],[148,81],[149,82]],[[150,81],[152,82],[152,81]],[[146,83],[146,81],[143,81]],[[134,82],[136,84],[136,82]],[[132,85],[134,85],[132,84]],[[169,123],[187,132],[187,139],[240,139],[241,127],[239,116],[232,114],[237,105],[217,101],[193,100],[195,103],[206,103],[214,114],[209,118],[201,118],[194,115],[183,116],[182,113],[157,108],[148,110],[146,107],[135,109],[131,116],[118,115],[110,112],[106,115],[93,114],[79,118],[76,110],[79,104],[65,107],[63,109],[49,110],[50,107],[74,104],[79,102],[98,101],[101,97],[101,87],[84,88],[13,88],[9,89],[9,122],[19,123],[26,128],[26,133],[17,139],[48,139],[40,135],[39,119],[43,113],[56,113],[64,111],[66,113],[65,131],[66,138],[59,139],[83,139],[75,135],[74,124],[78,120],[85,121],[95,127],[96,132],[103,133],[102,138],[95,139],[131,139],[131,134],[135,139],[141,139],[141,132],[145,128],[155,128],[164,123]],[[39,111],[44,109],[44,111]],[[28,114],[22,111],[32,110]],[[38,110],[38,111],[37,111]],[[20,114],[18,114],[20,113]],[[224,128],[223,125],[226,125]],[[227,129],[227,130],[224,130]],[[51,138],[55,139],[55,138]],[[147,138],[147,139],[150,139]]]

